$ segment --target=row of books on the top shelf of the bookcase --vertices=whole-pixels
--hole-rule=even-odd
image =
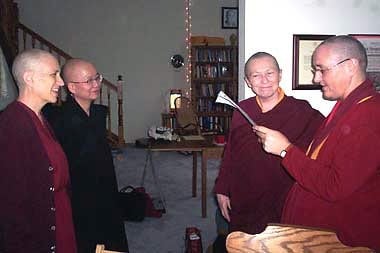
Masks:
[[[232,49],[196,49],[195,61],[198,62],[230,62],[232,61]]]

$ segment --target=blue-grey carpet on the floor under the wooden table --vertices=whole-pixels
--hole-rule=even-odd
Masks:
[[[119,189],[139,186],[146,160],[146,150],[128,146],[115,155],[115,171]],[[201,216],[200,157],[198,158],[197,197],[191,196],[192,156],[178,152],[153,152],[161,190],[166,200],[166,213],[161,218],[145,218],[142,222],[125,222],[131,253],[178,253],[185,251],[185,229],[195,226],[201,230],[203,251],[215,240],[216,202],[212,188],[220,160],[209,160],[207,167],[207,218]],[[148,167],[146,191],[159,194]]]

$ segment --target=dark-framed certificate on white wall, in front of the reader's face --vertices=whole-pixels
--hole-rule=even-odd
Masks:
[[[293,35],[293,90],[319,90],[321,88],[320,85],[313,83],[311,58],[315,48],[331,36],[333,35]]]

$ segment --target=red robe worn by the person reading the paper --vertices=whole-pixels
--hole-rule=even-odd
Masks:
[[[366,81],[341,101],[305,153],[282,164],[295,178],[282,222],[335,230],[350,246],[380,249],[380,94]]]

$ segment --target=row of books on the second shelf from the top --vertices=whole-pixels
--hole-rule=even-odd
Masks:
[[[232,66],[226,63],[198,64],[194,67],[195,78],[232,77]]]

